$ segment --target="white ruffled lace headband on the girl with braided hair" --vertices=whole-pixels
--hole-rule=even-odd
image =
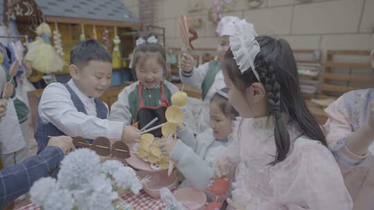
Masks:
[[[254,67],[254,59],[260,52],[260,44],[253,35],[253,29],[245,24],[245,20],[234,23],[234,25],[234,35],[230,37],[230,48],[240,73],[251,68],[256,79],[260,82],[260,77]]]

